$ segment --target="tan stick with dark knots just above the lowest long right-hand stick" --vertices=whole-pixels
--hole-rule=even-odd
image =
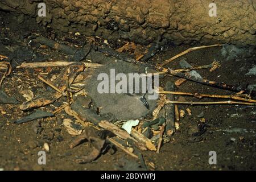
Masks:
[[[210,97],[210,98],[230,98],[233,100],[245,101],[245,102],[253,102],[256,103],[256,100],[252,100],[249,98],[242,98],[239,96],[233,95],[216,95],[216,94],[200,94],[200,93],[188,93],[188,92],[170,92],[170,91],[159,91],[159,94],[174,94],[174,95],[181,95],[181,96],[192,96],[196,98],[203,98],[203,97]]]

